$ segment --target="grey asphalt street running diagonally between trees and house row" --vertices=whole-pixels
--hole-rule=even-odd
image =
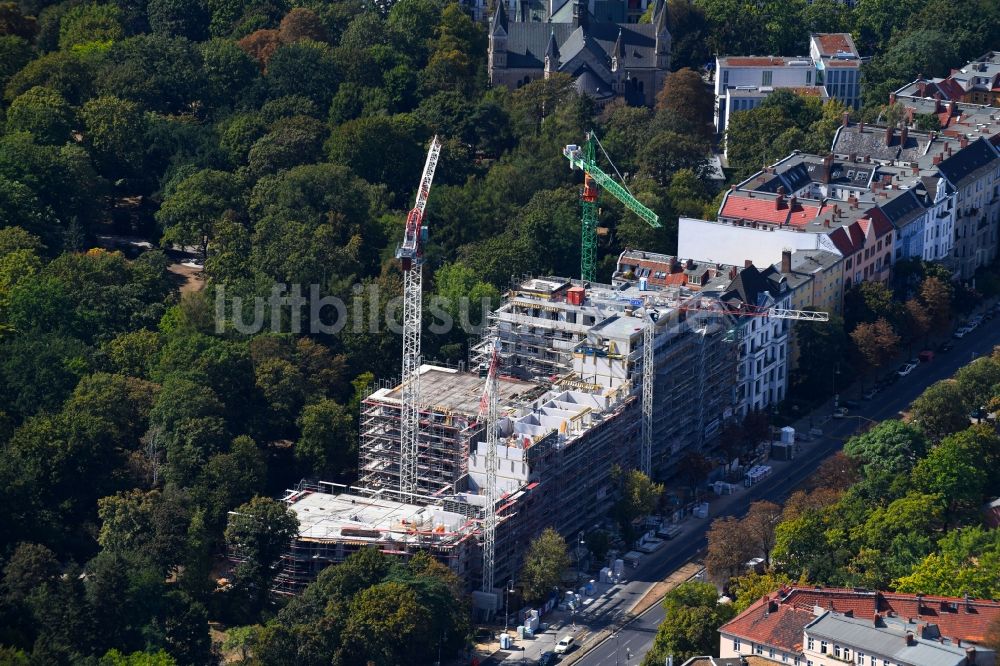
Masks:
[[[742,516],[751,501],[770,500],[782,502],[819,463],[840,449],[844,440],[860,430],[868,421],[882,421],[893,418],[906,409],[925,388],[934,382],[950,377],[958,368],[979,356],[989,355],[993,346],[1000,344],[1000,317],[986,321],[961,340],[952,340],[955,348],[945,354],[937,354],[930,363],[921,363],[908,376],[875,395],[871,401],[861,402],[844,419],[828,421],[822,438],[802,447],[795,459],[795,465],[784,470],[782,475],[773,475],[757,484],[745,496],[745,501],[731,505],[713,517],[727,515]],[[916,350],[915,350],[916,351]],[[883,371],[884,374],[888,374]],[[858,390],[858,389],[855,389]],[[842,399],[852,398],[853,393],[842,394]],[[706,546],[704,532],[697,538],[687,538],[684,543],[671,544],[664,557],[648,570],[640,570],[650,581],[662,580],[698,551]],[[652,647],[656,629],[663,621],[664,610],[660,604],[637,617],[622,628],[616,636],[591,650],[586,656],[574,662],[574,666],[635,666],[642,662],[643,655]],[[631,658],[629,658],[631,654]]]

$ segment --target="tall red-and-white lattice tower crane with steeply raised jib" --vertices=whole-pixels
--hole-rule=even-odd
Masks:
[[[417,200],[406,216],[403,243],[396,249],[403,270],[403,367],[400,411],[399,492],[413,496],[417,492],[417,458],[420,429],[420,329],[423,300],[423,226],[427,196],[434,181],[441,143],[431,140],[417,189]]]

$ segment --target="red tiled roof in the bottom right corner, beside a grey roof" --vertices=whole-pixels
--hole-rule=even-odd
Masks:
[[[838,230],[839,231],[839,230]],[[770,612],[765,614],[766,604]],[[952,604],[955,610],[951,610]],[[786,650],[801,650],[802,630],[813,619],[815,606],[854,617],[892,614],[904,619],[936,624],[941,635],[981,643],[990,622],[1000,617],[1000,602],[955,597],[923,597],[914,594],[863,592],[843,588],[801,588],[764,597],[720,627],[719,631]],[[808,617],[806,617],[808,616]]]

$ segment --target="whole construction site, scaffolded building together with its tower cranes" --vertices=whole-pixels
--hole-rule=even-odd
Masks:
[[[659,226],[596,167],[595,143],[591,134],[564,151],[585,173],[583,278],[515,281],[465,370],[421,355],[423,211],[440,151],[431,142],[397,251],[400,380],[362,400],[358,486],[285,497],[302,528],[277,591],[300,589],[358,548],[424,551],[460,575],[489,616],[543,529],[575,542],[605,522],[619,496],[615,470],[669,478],[685,453],[711,454],[726,420],[742,413],[744,324],[802,313],[762,305],[764,287],[747,285],[767,283],[751,265],[625,251],[611,284],[594,280],[599,188]]]

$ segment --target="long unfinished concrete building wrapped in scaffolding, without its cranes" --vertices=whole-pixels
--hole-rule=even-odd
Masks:
[[[734,413],[734,322],[723,313],[682,307],[699,293],[721,293],[728,271],[715,270],[699,291],[687,284],[651,285],[619,268],[612,285],[525,278],[491,316],[484,340],[500,340],[503,360],[494,565],[501,585],[544,528],[575,543],[579,532],[598,525],[617,499],[612,470],[639,466],[647,322],[654,326],[655,476],[668,476],[686,451],[707,452]],[[488,345],[474,350],[474,368]],[[340,494],[306,489],[286,498],[302,530],[279,587],[294,591],[326,564],[365,546],[400,556],[431,552],[474,587],[486,502],[479,416],[484,367],[421,366],[418,496],[398,492],[402,386],[385,384],[365,397],[359,488]],[[359,506],[364,511],[351,511]],[[421,515],[431,519],[429,531],[417,527]]]

